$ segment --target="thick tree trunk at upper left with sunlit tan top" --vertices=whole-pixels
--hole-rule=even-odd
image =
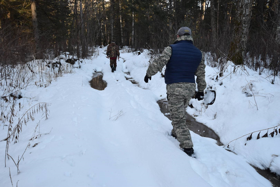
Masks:
[[[33,23],[33,32],[34,32],[34,40],[35,40],[35,58],[42,59],[43,54],[40,48],[38,19],[36,13],[36,0],[30,0],[30,2],[31,2],[32,23]]]

